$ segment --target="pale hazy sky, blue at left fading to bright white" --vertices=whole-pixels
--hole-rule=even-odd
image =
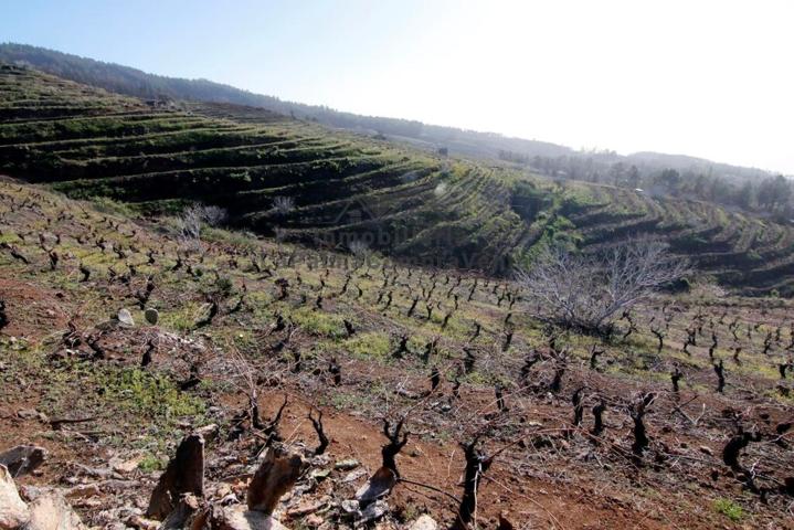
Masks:
[[[0,0],[0,41],[354,113],[794,174],[791,0]]]

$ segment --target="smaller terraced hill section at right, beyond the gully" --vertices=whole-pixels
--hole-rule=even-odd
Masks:
[[[579,244],[596,250],[635,234],[665,239],[700,271],[744,294],[791,296],[794,231],[714,204],[632,190],[568,183],[558,212]]]

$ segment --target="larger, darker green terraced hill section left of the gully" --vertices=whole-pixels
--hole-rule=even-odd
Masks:
[[[3,170],[72,197],[150,210],[211,201],[266,234],[277,227],[282,237],[331,247],[363,240],[481,268],[509,250],[510,234],[495,223],[520,224],[509,189],[475,166],[254,107],[161,108],[32,71],[7,67],[0,77]],[[289,202],[276,208],[277,198]]]

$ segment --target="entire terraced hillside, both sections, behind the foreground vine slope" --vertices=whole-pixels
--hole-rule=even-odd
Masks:
[[[142,102],[0,70],[0,170],[145,212],[225,206],[265,235],[507,274],[550,240],[649,233],[749,294],[794,292],[794,231],[680,199],[553,182],[225,104]]]

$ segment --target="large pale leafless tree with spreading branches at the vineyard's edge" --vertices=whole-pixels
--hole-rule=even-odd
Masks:
[[[610,335],[616,314],[649,298],[688,271],[666,245],[632,240],[595,254],[561,247],[541,251],[534,266],[517,272],[528,307],[541,320]]]

